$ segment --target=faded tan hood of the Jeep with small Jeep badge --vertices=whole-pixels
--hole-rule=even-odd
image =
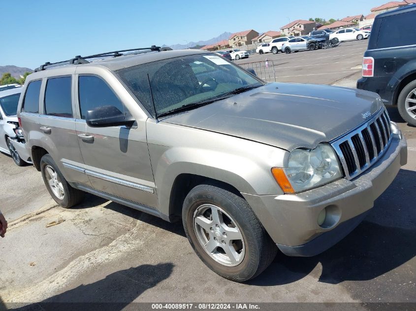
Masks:
[[[382,106],[369,91],[270,83],[162,121],[291,151],[332,141],[362,124],[364,113],[374,114]]]

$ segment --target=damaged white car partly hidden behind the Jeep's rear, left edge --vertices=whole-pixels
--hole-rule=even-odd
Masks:
[[[20,85],[0,89],[0,151],[9,154],[18,166],[32,163],[16,116],[21,92]]]

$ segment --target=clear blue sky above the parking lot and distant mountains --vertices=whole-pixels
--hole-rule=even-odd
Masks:
[[[35,68],[76,55],[186,44],[224,31],[279,30],[296,19],[369,14],[386,0],[0,0],[0,65]],[[227,3],[227,4],[226,4]],[[226,4],[226,5],[225,5]]]

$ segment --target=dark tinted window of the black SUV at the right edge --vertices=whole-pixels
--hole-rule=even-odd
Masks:
[[[416,44],[416,11],[383,18],[377,48]]]

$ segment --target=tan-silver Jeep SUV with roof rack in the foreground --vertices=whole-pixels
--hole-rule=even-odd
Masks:
[[[211,53],[151,50],[28,76],[18,116],[61,206],[88,192],[182,219],[210,269],[245,281],[278,249],[312,256],[337,243],[407,162],[375,93],[266,84]]]

